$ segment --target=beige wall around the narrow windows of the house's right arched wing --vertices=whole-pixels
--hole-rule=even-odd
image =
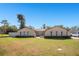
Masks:
[[[70,33],[67,30],[60,28],[60,27],[54,27],[54,28],[48,29],[45,32],[45,36],[51,36],[50,32],[52,32],[52,36],[56,36],[56,31],[57,31],[57,36],[61,36],[61,32],[63,32],[62,36],[69,36],[70,35]]]

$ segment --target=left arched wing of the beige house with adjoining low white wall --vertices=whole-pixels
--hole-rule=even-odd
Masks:
[[[15,37],[15,36],[19,36],[19,37],[35,37],[36,36],[36,33],[35,33],[35,31],[33,30],[33,29],[30,29],[30,28],[23,28],[23,29],[21,29],[21,30],[19,30],[18,32],[11,32],[11,33],[9,33],[10,34],[10,36],[13,36],[13,37]]]

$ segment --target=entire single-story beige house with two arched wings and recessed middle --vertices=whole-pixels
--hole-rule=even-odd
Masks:
[[[30,29],[23,28],[18,32],[9,33],[12,37],[69,37],[70,32],[65,28],[52,27],[49,29]]]

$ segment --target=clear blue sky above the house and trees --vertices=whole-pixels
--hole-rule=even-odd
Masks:
[[[79,4],[26,3],[0,4],[0,21],[7,19],[10,25],[19,26],[17,14],[23,14],[26,25],[36,28],[48,26],[79,26]]]

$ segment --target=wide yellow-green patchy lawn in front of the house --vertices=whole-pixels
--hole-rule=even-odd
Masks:
[[[61,48],[62,50],[59,51],[59,48]],[[0,55],[79,56],[79,40],[0,38]]]

